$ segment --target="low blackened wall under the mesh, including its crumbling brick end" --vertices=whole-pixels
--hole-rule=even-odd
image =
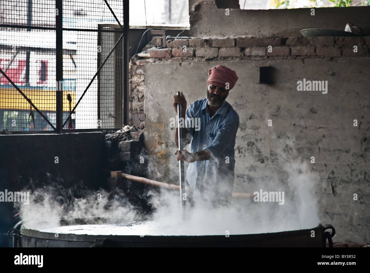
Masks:
[[[142,132],[83,132],[64,134],[0,135],[0,191],[33,191],[44,186],[64,188],[76,198],[81,191],[121,186],[129,202],[144,211],[150,205],[142,197],[144,185],[110,177],[110,171],[145,174],[146,164],[137,164],[143,151]],[[55,163],[58,156],[58,163]],[[119,184],[119,185],[117,185]],[[67,196],[62,192],[60,202]],[[13,202],[0,202],[0,246],[8,246],[4,236],[18,221]],[[23,216],[21,216],[23,217]]]

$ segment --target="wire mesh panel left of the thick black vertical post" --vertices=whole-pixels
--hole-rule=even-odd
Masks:
[[[21,95],[55,124],[55,3],[1,1],[0,28],[0,127],[8,131],[52,130],[46,119]],[[20,27],[16,27],[20,26]],[[28,28],[27,28],[27,27]],[[55,82],[54,82],[55,84]]]

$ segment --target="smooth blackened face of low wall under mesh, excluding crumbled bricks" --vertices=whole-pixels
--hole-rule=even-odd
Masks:
[[[101,132],[65,134],[0,135],[0,191],[34,189],[51,182],[65,188],[104,188],[102,173],[104,135]],[[55,163],[58,156],[58,163]],[[0,202],[0,233],[6,233],[19,218],[13,218],[13,202]],[[0,246],[7,246],[0,236]]]

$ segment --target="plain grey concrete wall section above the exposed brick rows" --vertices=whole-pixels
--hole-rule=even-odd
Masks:
[[[214,0],[189,0],[192,36],[300,35],[304,28],[329,28],[344,30],[346,23],[363,27],[369,32],[370,7],[310,9],[240,10],[218,9]],[[210,27],[212,26],[212,27]]]

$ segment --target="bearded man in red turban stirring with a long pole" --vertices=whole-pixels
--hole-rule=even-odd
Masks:
[[[190,143],[190,152],[176,151],[177,160],[189,162],[186,170],[188,196],[191,203],[205,202],[213,207],[231,203],[234,186],[234,146],[239,127],[239,115],[225,101],[238,76],[225,65],[209,70],[206,98],[190,104],[182,94],[174,95],[174,108],[181,104],[181,117],[185,121],[200,118],[199,130],[181,128],[183,144]],[[178,145],[178,128],[175,132]],[[190,190],[190,191],[189,191]]]

